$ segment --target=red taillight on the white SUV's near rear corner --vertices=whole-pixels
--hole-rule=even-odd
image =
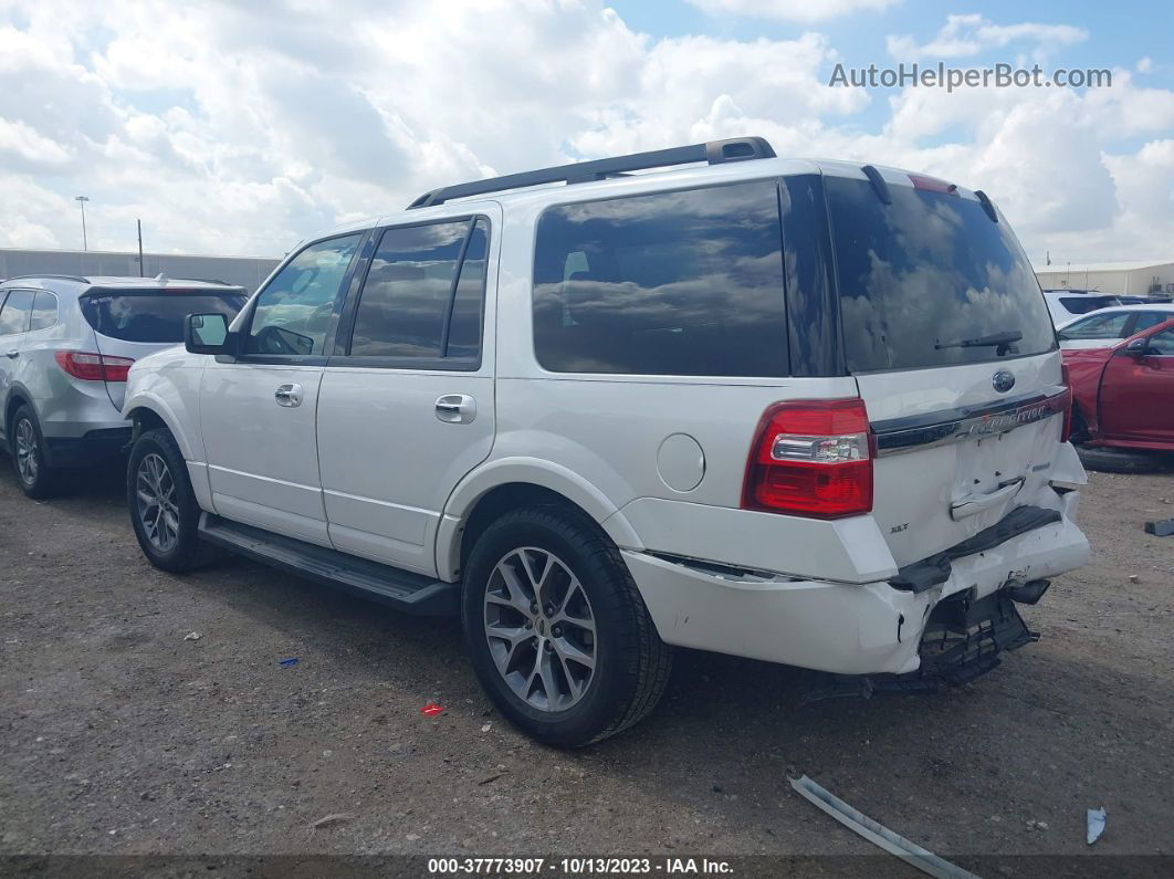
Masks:
[[[864,400],[802,400],[768,408],[750,447],[742,507],[815,519],[871,511]]]

